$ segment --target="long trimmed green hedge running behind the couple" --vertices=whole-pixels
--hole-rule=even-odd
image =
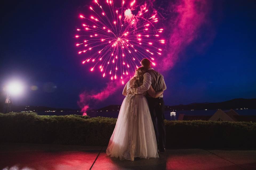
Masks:
[[[107,146],[115,118],[0,113],[0,141]],[[255,147],[256,123],[167,121],[166,147]]]

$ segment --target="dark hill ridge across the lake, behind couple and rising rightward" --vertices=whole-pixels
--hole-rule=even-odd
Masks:
[[[109,105],[100,109],[95,109],[94,111],[119,111],[121,105]],[[256,99],[232,99],[228,101],[218,102],[218,103],[191,103],[187,105],[175,105],[175,106],[165,106],[165,110],[215,110],[215,109],[256,109]]]

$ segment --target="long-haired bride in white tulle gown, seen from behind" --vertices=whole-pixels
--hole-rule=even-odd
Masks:
[[[159,158],[155,131],[145,95],[159,97],[163,91],[155,92],[152,86],[142,94],[135,94],[143,83],[144,67],[139,67],[135,75],[125,85],[123,100],[115,129],[110,138],[106,153],[120,160],[134,158]]]

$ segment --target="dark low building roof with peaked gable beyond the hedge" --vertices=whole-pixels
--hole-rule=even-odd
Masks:
[[[241,116],[233,109],[229,111],[222,111],[218,109],[213,115],[185,115],[179,114],[178,120],[211,120],[211,121],[231,121],[231,122],[256,122],[256,116],[254,115],[246,115]]]

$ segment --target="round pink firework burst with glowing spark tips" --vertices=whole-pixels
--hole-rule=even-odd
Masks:
[[[94,0],[95,9],[89,8],[93,15],[79,15],[83,23],[75,36],[80,40],[76,44],[81,48],[78,54],[85,57],[82,63],[91,63],[90,71],[99,69],[102,77],[120,78],[122,84],[124,76],[130,76],[142,58],[148,58],[155,66],[154,58],[162,51],[158,46],[165,43],[160,39],[163,29],[154,26],[158,22],[156,14],[150,15],[146,5],[136,12],[134,4],[135,1],[125,7],[122,1],[117,8],[113,1],[106,0],[104,5],[109,8],[105,11]]]

